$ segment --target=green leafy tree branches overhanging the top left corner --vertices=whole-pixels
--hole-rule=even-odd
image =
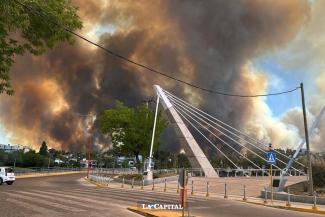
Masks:
[[[76,30],[82,24],[69,0],[3,0],[0,11],[0,94],[12,95],[14,57],[27,52],[41,55],[59,42],[72,43],[72,35],[61,26]]]

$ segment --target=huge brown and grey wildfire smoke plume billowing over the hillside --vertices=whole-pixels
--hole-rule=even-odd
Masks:
[[[179,79],[240,94],[266,92],[268,78],[250,61],[286,45],[310,13],[304,0],[73,3],[85,26],[80,33],[102,46]],[[16,94],[1,96],[0,119],[13,143],[38,146],[46,140],[51,147],[83,149],[85,118],[78,114],[99,115],[116,99],[141,103],[154,96],[153,84],[260,139],[293,144],[299,138],[298,131],[270,117],[265,99],[204,93],[80,40],[41,57],[17,57],[12,81]]]

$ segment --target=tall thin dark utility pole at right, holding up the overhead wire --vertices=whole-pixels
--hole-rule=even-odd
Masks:
[[[311,167],[311,153],[310,153],[310,147],[309,147],[308,124],[307,124],[305,93],[304,93],[304,84],[303,83],[300,83],[300,90],[301,90],[302,113],[303,113],[303,117],[304,117],[305,139],[306,139],[306,149],[307,149],[309,194],[312,195],[314,192],[314,186],[313,186],[314,183],[313,183],[313,172],[312,172],[312,167]]]

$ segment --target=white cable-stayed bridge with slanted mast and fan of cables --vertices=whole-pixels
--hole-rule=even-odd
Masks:
[[[175,125],[178,136],[182,138],[182,146],[193,168],[201,168],[207,177],[218,176],[189,129],[196,136],[199,136],[200,141],[204,141],[216,153],[223,156],[234,169],[243,169],[242,165],[239,165],[230,157],[234,154],[246,161],[251,168],[264,169],[263,165],[267,164],[265,156],[269,150],[269,144],[251,137],[245,132],[162,89],[158,85],[155,85],[154,89],[158,95],[156,110],[160,100],[169,116],[169,120]],[[324,111],[325,108],[317,117],[309,130],[310,132],[317,128]],[[304,144],[304,141],[302,143]],[[279,150],[273,150],[279,156],[278,163],[274,167],[282,171],[281,177],[288,175],[288,170],[293,170],[296,174],[305,175],[303,170],[305,165],[297,161],[302,147],[303,145],[301,144],[297,147],[293,157]],[[246,154],[241,150],[245,150]],[[259,161],[257,162],[256,159]],[[263,163],[261,164],[261,162]]]

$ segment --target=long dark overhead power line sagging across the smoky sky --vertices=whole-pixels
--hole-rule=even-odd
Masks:
[[[48,18],[48,17],[46,16],[46,14],[41,13],[41,11],[37,11],[37,10],[35,10],[34,8],[31,8],[31,7],[27,6],[27,5],[24,4],[24,3],[21,3],[21,2],[18,1],[18,0],[13,0],[13,1],[14,1],[16,4],[19,4],[20,6],[26,8],[28,11],[30,11],[30,12],[33,13],[34,15],[41,16],[41,17],[43,17],[43,18],[45,18],[45,19]],[[47,19],[47,21],[49,21],[49,22],[51,22],[52,24],[58,26],[59,28],[63,29],[64,31],[67,31],[67,32],[69,32],[70,34],[72,34],[72,35],[74,35],[74,36],[76,36],[76,37],[78,37],[78,38],[80,38],[80,39],[82,39],[82,40],[84,40],[84,41],[86,41],[86,42],[88,42],[88,43],[90,43],[90,44],[92,44],[92,45],[94,45],[94,46],[100,48],[100,49],[102,49],[103,51],[105,51],[105,52],[111,54],[112,56],[114,56],[114,57],[116,57],[116,58],[119,58],[119,59],[122,60],[122,61],[125,61],[125,62],[127,62],[127,63],[133,64],[133,65],[136,65],[136,66],[138,66],[138,67],[140,67],[140,68],[146,69],[146,70],[151,71],[151,72],[156,73],[156,74],[159,74],[160,76],[163,76],[163,77],[166,77],[166,78],[172,79],[172,80],[174,80],[174,81],[177,81],[177,82],[180,82],[180,83],[186,84],[186,85],[188,85],[188,86],[190,86],[190,87],[193,87],[193,88],[196,88],[196,89],[199,89],[199,90],[205,91],[205,92],[209,92],[209,93],[213,93],[213,94],[217,94],[217,95],[222,95],[222,96],[231,96],[231,97],[242,97],[242,98],[248,98],[248,97],[263,97],[263,96],[276,96],[276,95],[281,95],[281,94],[287,94],[287,93],[294,92],[294,91],[296,91],[296,90],[298,90],[298,89],[300,88],[300,87],[296,87],[296,88],[294,88],[294,89],[287,90],[287,91],[276,92],[276,93],[268,93],[268,94],[256,94],[256,95],[232,94],[232,93],[226,93],[226,92],[222,92],[222,91],[218,91],[218,90],[208,89],[208,88],[205,88],[205,87],[199,86],[199,85],[197,85],[197,84],[193,84],[193,83],[190,83],[190,82],[188,82],[188,81],[184,81],[184,80],[182,80],[182,79],[180,79],[180,78],[173,77],[173,76],[171,76],[171,75],[169,75],[169,74],[166,74],[166,73],[164,73],[164,72],[161,72],[161,71],[159,71],[159,70],[156,70],[156,69],[154,69],[154,68],[152,68],[152,67],[150,67],[150,66],[144,65],[144,64],[142,64],[142,63],[138,63],[138,62],[136,62],[136,61],[134,61],[134,60],[132,60],[132,59],[129,59],[129,58],[127,58],[127,57],[124,57],[124,56],[122,56],[122,55],[120,55],[120,54],[118,54],[118,53],[116,53],[116,52],[114,52],[114,51],[112,51],[112,50],[110,50],[110,49],[108,49],[108,48],[106,48],[106,47],[103,47],[102,45],[100,45],[100,44],[98,44],[98,43],[96,43],[96,42],[93,42],[93,41],[87,39],[86,37],[84,37],[84,36],[82,36],[82,35],[80,35],[80,34],[74,32],[73,30],[71,30],[71,29],[69,29],[69,28],[67,28],[67,27],[65,27],[65,26],[63,26],[63,25],[61,25],[61,24],[59,24],[59,23],[57,23],[57,22],[55,22],[55,21],[53,21],[53,20]]]

